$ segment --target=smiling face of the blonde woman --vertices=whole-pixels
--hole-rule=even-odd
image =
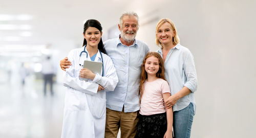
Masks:
[[[173,30],[174,29],[168,22],[165,22],[158,28],[157,38],[163,47],[164,45],[173,44],[173,37],[175,35],[175,31]]]

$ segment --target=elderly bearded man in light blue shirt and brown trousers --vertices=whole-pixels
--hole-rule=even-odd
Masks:
[[[139,29],[139,17],[134,12],[121,15],[118,38],[104,42],[106,54],[113,60],[119,82],[114,91],[106,92],[105,137],[134,137],[139,110],[139,80],[141,64],[149,50],[146,43],[135,39]],[[60,61],[62,70],[69,67],[67,58]]]

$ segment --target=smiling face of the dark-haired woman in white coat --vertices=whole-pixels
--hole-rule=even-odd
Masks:
[[[83,33],[84,39],[87,41],[87,46],[89,47],[98,47],[98,43],[102,36],[102,32],[100,32],[95,27],[89,27],[85,33]]]

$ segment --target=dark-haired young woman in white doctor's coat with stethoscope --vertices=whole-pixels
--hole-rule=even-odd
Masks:
[[[66,69],[67,87],[61,137],[104,137],[105,91],[113,91],[118,82],[111,58],[105,54],[100,22],[89,19],[83,26],[83,47],[68,55],[72,65]],[[102,62],[102,73],[83,68],[84,60]]]

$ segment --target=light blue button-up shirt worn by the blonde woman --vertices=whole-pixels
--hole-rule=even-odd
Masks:
[[[162,49],[157,51],[162,57]],[[197,90],[197,73],[194,57],[191,52],[179,43],[170,49],[164,61],[165,79],[169,83],[171,94],[178,93],[184,86],[191,90],[191,93],[177,101],[173,106],[174,111],[184,109],[191,102],[196,112],[196,100],[194,93]]]

